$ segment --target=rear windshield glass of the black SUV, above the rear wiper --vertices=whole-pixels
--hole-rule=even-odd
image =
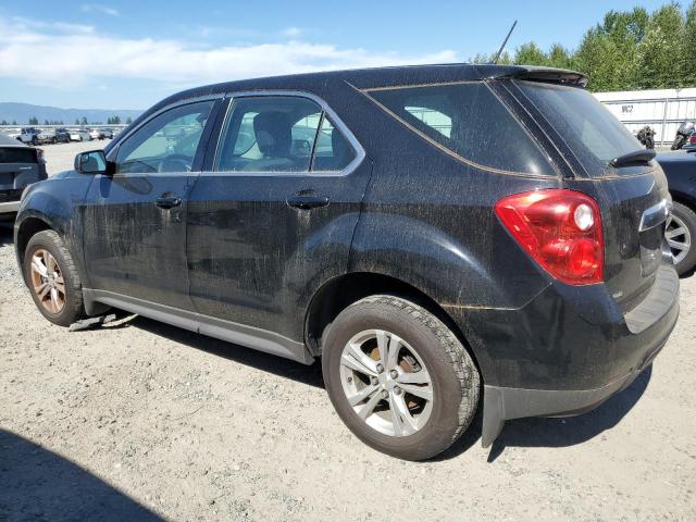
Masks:
[[[534,82],[518,82],[518,86],[591,176],[607,173],[609,161],[643,148],[623,124],[584,89]],[[611,169],[611,172],[621,174],[622,169]]]

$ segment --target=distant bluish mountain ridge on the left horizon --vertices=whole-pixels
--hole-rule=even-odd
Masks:
[[[63,122],[65,125],[72,125],[75,120],[82,122],[83,117],[88,123],[107,123],[107,120],[119,116],[122,122],[130,117],[135,120],[142,111],[130,110],[107,110],[107,109],[59,109],[57,107],[32,105],[29,103],[13,103],[0,101],[0,122],[3,120],[11,124],[13,121],[17,125],[26,125],[30,117],[36,117],[39,124],[45,121]]]

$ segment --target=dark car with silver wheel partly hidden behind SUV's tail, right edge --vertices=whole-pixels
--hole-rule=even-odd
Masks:
[[[681,275],[696,266],[696,150],[662,152],[657,160],[672,195],[664,235]]]

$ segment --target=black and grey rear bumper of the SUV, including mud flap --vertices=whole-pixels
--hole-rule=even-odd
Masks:
[[[621,391],[662,349],[678,318],[671,262],[626,313],[605,285],[558,283],[520,309],[467,310],[462,331],[485,384],[484,446],[506,420],[579,414]]]

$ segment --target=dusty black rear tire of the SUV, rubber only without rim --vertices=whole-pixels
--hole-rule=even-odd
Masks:
[[[365,330],[385,330],[418,347],[432,380],[433,406],[415,433],[393,436],[365,423],[348,402],[341,383],[341,355]],[[449,448],[467,430],[478,405],[478,371],[459,339],[424,308],[394,296],[372,296],[346,308],[324,335],[322,371],[338,415],[363,443],[393,457],[425,460]]]

